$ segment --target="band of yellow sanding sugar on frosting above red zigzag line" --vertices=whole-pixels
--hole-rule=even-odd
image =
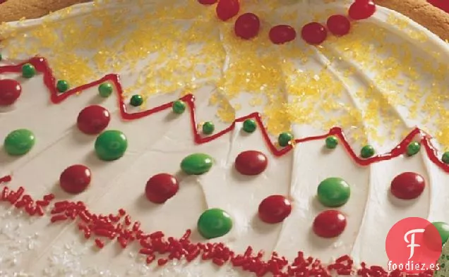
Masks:
[[[262,20],[282,5],[266,2],[271,9],[258,13]],[[449,68],[420,58],[439,53],[421,47],[429,56],[416,55],[409,40],[391,35],[395,31],[353,22],[349,35],[329,35],[318,47],[300,37],[274,45],[265,23],[258,37],[244,41],[235,36],[232,20],[223,23],[214,6],[196,0],[139,0],[133,6],[121,0],[105,8],[108,4],[85,6],[82,16],[66,9],[53,15],[61,19],[48,17],[25,32],[1,25],[0,36],[7,39],[0,46],[11,59],[45,56],[56,78],[73,86],[107,73],[136,72],[124,97],[141,94],[145,101],[154,94],[185,95],[212,84],[217,92],[209,102],[222,121],[232,122],[236,111],[254,106],[273,134],[291,130],[294,123],[322,129],[339,125],[361,143],[383,143],[400,140],[413,120],[449,145],[448,86],[438,85]],[[333,13],[325,10],[311,18],[322,22]],[[297,11],[281,18],[285,24],[301,21]],[[401,16],[387,21],[412,42],[428,39]],[[250,94],[249,103],[237,103],[241,94]]]

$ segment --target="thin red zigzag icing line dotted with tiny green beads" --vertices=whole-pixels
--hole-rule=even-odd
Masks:
[[[140,111],[137,113],[128,113],[126,111],[126,104],[123,101],[124,92],[123,87],[121,87],[120,78],[119,75],[116,74],[108,74],[105,75],[100,80],[96,80],[93,82],[90,82],[85,85],[80,85],[79,87],[74,87],[71,90],[68,90],[65,93],[59,93],[56,91],[56,78],[54,78],[54,75],[52,73],[52,69],[49,67],[49,64],[47,63],[47,60],[42,57],[34,57],[32,59],[29,59],[28,61],[24,61],[23,63],[18,63],[16,65],[10,65],[10,66],[0,66],[0,73],[20,73],[22,70],[22,66],[25,63],[31,63],[33,66],[35,66],[36,70],[43,74],[44,84],[48,88],[50,92],[50,99],[54,104],[58,104],[61,101],[64,101],[68,97],[71,97],[71,95],[82,92],[83,90],[87,90],[90,87],[95,87],[98,85],[101,85],[103,82],[112,82],[114,83],[116,87],[116,93],[118,94],[117,97],[119,99],[119,109],[121,113],[121,117],[126,120],[135,120],[138,118],[143,118],[145,116],[150,116],[152,113],[157,113],[159,111],[164,111],[166,109],[171,109],[173,101],[162,104],[161,106],[157,106],[155,108],[146,110],[146,111]],[[181,97],[181,100],[186,101],[188,104],[188,108],[190,111],[190,117],[191,117],[191,128],[193,132],[193,139],[197,144],[203,144],[210,142],[212,140],[217,139],[218,137],[221,137],[222,135],[229,133],[230,131],[234,130],[235,123],[237,122],[243,122],[246,119],[253,118],[258,126],[259,130],[261,130],[261,133],[263,135],[263,138],[270,149],[270,151],[275,154],[275,156],[282,156],[284,154],[287,154],[290,152],[290,150],[293,149],[292,145],[289,145],[287,147],[284,147],[282,149],[278,149],[273,142],[270,140],[270,136],[268,135],[268,132],[263,125],[262,118],[260,113],[250,113],[248,116],[243,116],[241,118],[237,118],[234,120],[234,122],[229,125],[229,127],[225,128],[224,130],[221,130],[219,133],[215,133],[215,135],[210,135],[208,137],[202,137],[200,133],[198,133],[197,130],[197,121],[196,121],[196,114],[195,114],[195,97],[192,94],[188,94],[184,97]],[[314,137],[304,137],[301,139],[295,140],[295,144],[299,144],[302,142],[308,142],[311,140],[324,140],[325,137],[328,137],[329,135],[335,135],[340,139],[340,142],[347,150],[347,153],[349,156],[352,157],[352,159],[361,166],[368,166],[370,164],[373,164],[378,161],[385,161],[394,159],[397,156],[400,156],[402,154],[405,154],[407,152],[407,145],[413,140],[413,138],[417,135],[421,136],[421,144],[424,146],[424,149],[426,149],[426,154],[429,156],[429,159],[436,164],[439,168],[443,169],[443,171],[449,173],[449,165],[443,163],[441,159],[438,158],[438,150],[436,147],[433,146],[431,142],[431,136],[426,134],[423,130],[419,128],[414,128],[405,138],[402,140],[399,144],[397,144],[396,147],[394,147],[390,152],[387,152],[385,154],[378,154],[376,156],[372,156],[369,159],[361,159],[352,149],[352,147],[349,145],[349,142],[346,140],[345,133],[343,133],[342,129],[339,127],[334,127],[329,130],[328,133],[323,135],[318,135]]]

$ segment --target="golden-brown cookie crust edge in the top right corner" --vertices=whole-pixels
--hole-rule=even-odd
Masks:
[[[449,14],[426,0],[374,0],[374,2],[402,13],[441,39],[449,40]]]

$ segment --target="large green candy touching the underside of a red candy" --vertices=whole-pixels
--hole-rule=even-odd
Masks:
[[[128,140],[118,130],[107,130],[95,140],[95,153],[103,161],[114,161],[121,158],[128,148]]]

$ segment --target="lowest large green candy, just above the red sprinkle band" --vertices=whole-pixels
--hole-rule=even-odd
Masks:
[[[218,238],[232,229],[232,219],[222,209],[208,209],[198,218],[197,226],[203,238]]]

